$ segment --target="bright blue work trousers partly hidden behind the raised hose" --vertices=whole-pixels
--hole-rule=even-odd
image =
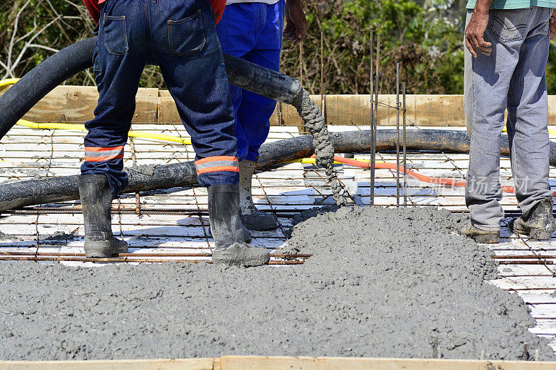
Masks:
[[[222,50],[248,62],[279,72],[284,28],[284,0],[265,3],[232,3],[216,26]],[[269,118],[276,101],[230,85],[236,113],[239,160],[256,161],[268,137]]]

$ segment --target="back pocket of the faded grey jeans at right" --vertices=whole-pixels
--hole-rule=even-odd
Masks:
[[[489,22],[489,32],[500,42],[523,40],[533,8],[496,9]]]

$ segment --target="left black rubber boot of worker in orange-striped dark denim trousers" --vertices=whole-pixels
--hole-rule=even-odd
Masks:
[[[127,243],[112,234],[112,191],[108,178],[105,175],[81,175],[77,183],[85,223],[85,256],[111,258],[118,253],[127,253]]]

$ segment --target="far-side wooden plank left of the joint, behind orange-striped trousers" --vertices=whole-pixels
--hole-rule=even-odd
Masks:
[[[58,86],[25,116],[33,122],[84,122],[95,117],[99,94],[94,86]],[[133,122],[156,122],[158,89],[138,90]]]

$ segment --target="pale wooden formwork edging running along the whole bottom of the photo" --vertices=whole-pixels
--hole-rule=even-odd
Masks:
[[[174,360],[92,360],[0,362],[0,370],[548,370],[556,362],[437,360],[402,358],[310,358],[222,356]]]

